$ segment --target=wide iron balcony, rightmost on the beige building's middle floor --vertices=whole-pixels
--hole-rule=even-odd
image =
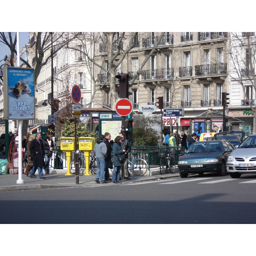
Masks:
[[[196,76],[227,74],[227,63],[205,64],[195,66]]]

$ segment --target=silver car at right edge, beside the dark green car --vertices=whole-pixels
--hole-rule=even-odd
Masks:
[[[256,134],[248,136],[227,158],[227,172],[232,178],[256,173]]]

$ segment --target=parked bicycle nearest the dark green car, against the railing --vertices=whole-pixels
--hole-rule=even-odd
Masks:
[[[166,170],[169,169],[171,173],[176,172],[176,165],[175,165],[175,153],[173,153],[174,149],[166,148],[164,152],[158,152],[158,156],[160,157],[160,174],[163,174],[164,167]],[[167,154],[167,156],[166,156]]]

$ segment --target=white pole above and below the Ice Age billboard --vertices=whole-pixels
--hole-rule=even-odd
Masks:
[[[20,67],[20,34],[17,32],[17,67]],[[18,167],[18,180],[17,184],[23,184],[22,179],[22,120],[18,120],[18,157],[19,157],[19,167]]]

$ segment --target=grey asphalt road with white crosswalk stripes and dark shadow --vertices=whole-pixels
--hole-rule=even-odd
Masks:
[[[255,224],[256,175],[0,192],[1,224]]]

